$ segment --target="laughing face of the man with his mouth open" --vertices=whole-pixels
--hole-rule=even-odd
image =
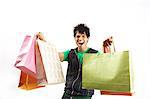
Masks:
[[[78,47],[87,46],[88,39],[89,38],[86,36],[86,33],[81,34],[81,33],[77,32],[77,34],[75,36],[75,42],[76,42]]]

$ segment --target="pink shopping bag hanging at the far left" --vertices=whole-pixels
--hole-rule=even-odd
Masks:
[[[15,67],[33,77],[36,77],[35,41],[36,35],[34,37],[29,35],[25,36],[15,62]]]

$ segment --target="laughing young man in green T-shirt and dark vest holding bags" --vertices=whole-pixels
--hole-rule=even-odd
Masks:
[[[77,47],[75,49],[60,52],[61,62],[68,61],[65,90],[62,99],[91,99],[94,90],[82,88],[82,63],[84,53],[97,53],[98,51],[87,46],[90,29],[85,24],[74,27],[74,39]],[[39,35],[40,39],[43,36]],[[103,46],[111,45],[109,39],[103,42]]]

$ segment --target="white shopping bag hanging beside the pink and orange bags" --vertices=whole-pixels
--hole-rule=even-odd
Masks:
[[[64,75],[55,46],[50,42],[44,42],[39,39],[38,45],[42,56],[48,84],[63,83]]]

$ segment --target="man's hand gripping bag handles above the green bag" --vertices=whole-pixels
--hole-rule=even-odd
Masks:
[[[109,37],[108,39],[106,39],[104,42],[103,42],[103,51],[104,53],[110,53],[111,52],[111,49],[110,49],[110,46],[113,42],[113,37]]]

